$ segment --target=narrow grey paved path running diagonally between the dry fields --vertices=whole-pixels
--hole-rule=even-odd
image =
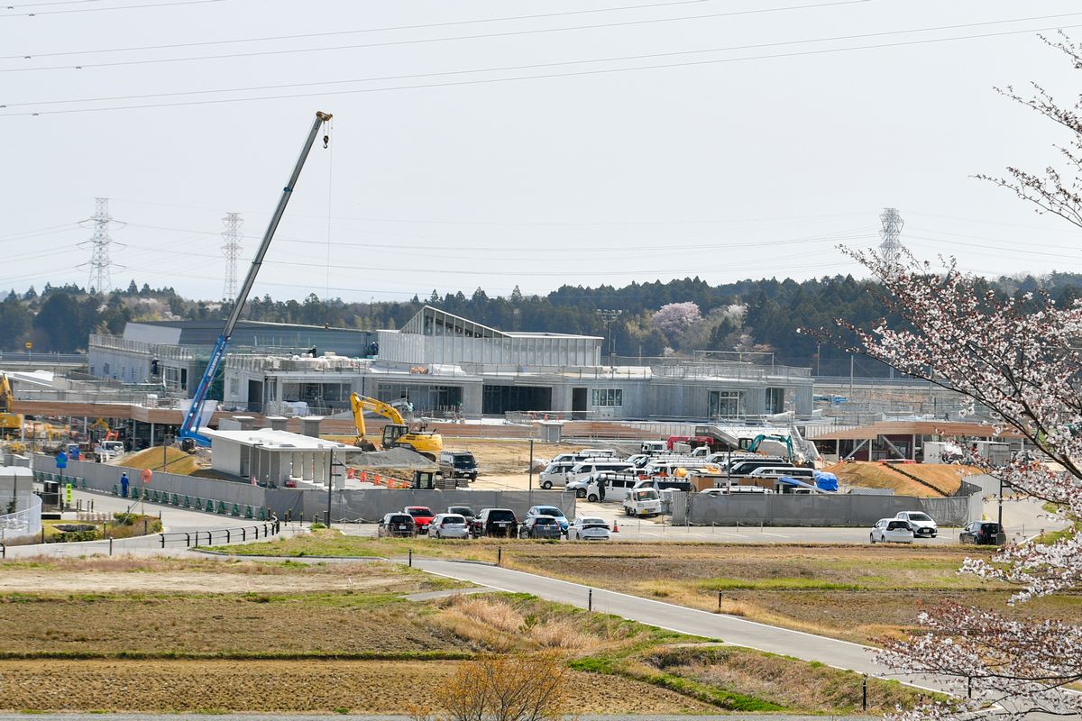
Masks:
[[[625,593],[591,589],[581,584],[491,565],[414,558],[413,566],[448,578],[469,580],[502,591],[532,593],[549,601],[583,609],[592,602],[594,611],[682,633],[721,639],[726,643],[804,660],[816,660],[835,668],[852,669],[879,678],[893,678],[918,686],[940,687],[939,683],[931,679],[886,673],[884,667],[872,660],[867,646],[848,641],[766,626],[737,616],[709,613]]]

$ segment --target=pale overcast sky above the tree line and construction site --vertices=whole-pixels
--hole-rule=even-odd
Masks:
[[[1055,158],[993,86],[1077,96],[1037,31],[1082,38],[1078,0],[14,2],[0,289],[85,285],[106,197],[115,285],[220,298],[222,216],[242,278],[316,110],[259,295],[859,273],[835,245],[888,205],[919,255],[1082,271],[1077,229],[971,177]]]

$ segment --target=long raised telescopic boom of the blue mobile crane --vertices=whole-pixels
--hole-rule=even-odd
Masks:
[[[308,136],[304,141],[304,146],[301,148],[301,156],[296,159],[296,164],[293,166],[293,173],[289,176],[289,182],[281,190],[278,206],[275,209],[274,215],[270,216],[270,224],[267,226],[266,232],[263,233],[263,241],[255,252],[255,257],[252,258],[252,265],[245,277],[245,283],[240,286],[240,292],[237,293],[233,311],[225,321],[222,335],[217,337],[217,343],[214,344],[214,349],[210,353],[210,360],[207,361],[207,370],[199,379],[199,385],[196,387],[195,395],[192,398],[192,405],[188,406],[187,413],[184,415],[184,423],[181,425],[181,430],[177,433],[183,448],[186,450],[193,450],[196,443],[199,445],[210,445],[210,439],[199,432],[200,416],[202,416],[203,403],[207,401],[207,391],[210,390],[210,384],[214,379],[214,374],[217,372],[219,366],[222,364],[222,359],[225,357],[225,347],[229,343],[229,336],[233,335],[233,330],[237,326],[237,321],[240,319],[240,311],[245,308],[248,294],[255,282],[255,276],[260,271],[260,266],[263,265],[263,256],[266,255],[267,248],[270,246],[270,239],[274,238],[275,230],[278,229],[278,223],[281,222],[281,216],[286,212],[286,205],[293,193],[293,188],[296,187],[296,181],[301,176],[304,161],[308,158],[308,151],[312,150],[312,144],[316,142],[319,129],[322,128],[324,123],[330,122],[330,120],[331,115],[329,112],[316,112],[316,119],[308,130]],[[324,147],[327,147],[329,139],[329,135],[324,135]]]

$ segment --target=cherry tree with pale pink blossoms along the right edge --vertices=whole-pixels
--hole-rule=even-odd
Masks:
[[[1082,70],[1082,45],[1064,35],[1045,42]],[[1070,131],[1059,148],[1067,170],[1010,168],[1006,177],[986,179],[1082,227],[1082,98],[1058,106],[1037,84],[1030,98],[1001,92]],[[1015,429],[1055,465],[1019,455],[997,473],[1053,504],[1074,529],[1082,521],[1082,303],[1058,306],[1040,293],[1004,298],[953,258],[932,264],[908,254],[845,252],[880,280],[884,303],[902,322],[862,329],[840,320],[842,333],[833,337],[855,337],[849,350],[967,396],[994,424]],[[1011,544],[990,561],[967,559],[961,572],[1012,585],[1007,602],[1017,606],[1082,586],[1082,540],[1070,531],[1052,543]],[[1082,681],[1082,619],[1038,622],[947,604],[922,613],[920,624],[903,640],[885,640],[878,657],[899,671],[946,679],[956,700],[898,718],[1082,715],[1082,694],[1066,689]]]

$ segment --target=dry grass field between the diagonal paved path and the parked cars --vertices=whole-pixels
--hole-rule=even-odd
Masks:
[[[916,626],[920,611],[951,601],[1003,613],[1063,617],[1082,612],[1078,597],[1051,597],[1024,610],[1004,607],[1011,590],[961,575],[973,546],[568,544],[481,538],[358,538],[318,532],[289,540],[238,546],[240,553],[285,556],[414,555],[496,561],[530,571],[704,611],[721,610],[775,626],[875,643]]]

